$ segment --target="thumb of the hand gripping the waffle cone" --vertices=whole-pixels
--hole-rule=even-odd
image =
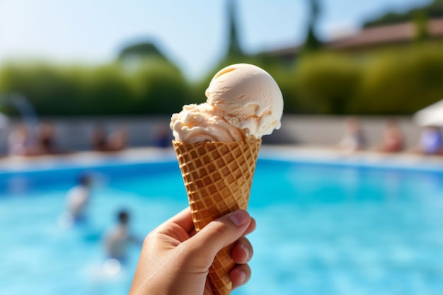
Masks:
[[[188,243],[192,253],[205,258],[210,264],[219,250],[244,235],[249,224],[251,216],[245,210],[238,209],[210,222],[185,243]]]

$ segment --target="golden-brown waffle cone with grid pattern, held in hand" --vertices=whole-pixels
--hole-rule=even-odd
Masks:
[[[249,142],[182,144],[173,141],[188,192],[195,231],[236,209],[248,209],[249,194],[261,139]],[[227,295],[234,244],[217,253],[209,268],[215,295]]]

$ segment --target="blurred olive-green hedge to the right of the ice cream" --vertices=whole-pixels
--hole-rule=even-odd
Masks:
[[[321,52],[294,72],[299,110],[316,114],[408,115],[443,98],[443,44],[366,55]],[[280,83],[280,82],[279,82]]]

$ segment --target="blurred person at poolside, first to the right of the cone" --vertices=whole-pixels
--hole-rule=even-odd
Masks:
[[[345,123],[345,134],[338,144],[346,151],[362,151],[366,147],[366,138],[359,120],[349,117]]]

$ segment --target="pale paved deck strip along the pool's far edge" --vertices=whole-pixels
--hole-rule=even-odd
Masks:
[[[302,163],[333,164],[335,166],[401,168],[443,172],[443,156],[423,156],[408,152],[384,154],[376,151],[358,151],[349,153],[326,146],[264,145],[260,149],[259,157]],[[0,172],[13,173],[23,170],[51,169],[51,167],[55,167],[60,163],[74,166],[95,166],[106,161],[138,163],[141,161],[174,161],[175,158],[176,155],[173,149],[154,147],[127,149],[117,153],[83,151],[54,156],[13,156],[0,158]]]

